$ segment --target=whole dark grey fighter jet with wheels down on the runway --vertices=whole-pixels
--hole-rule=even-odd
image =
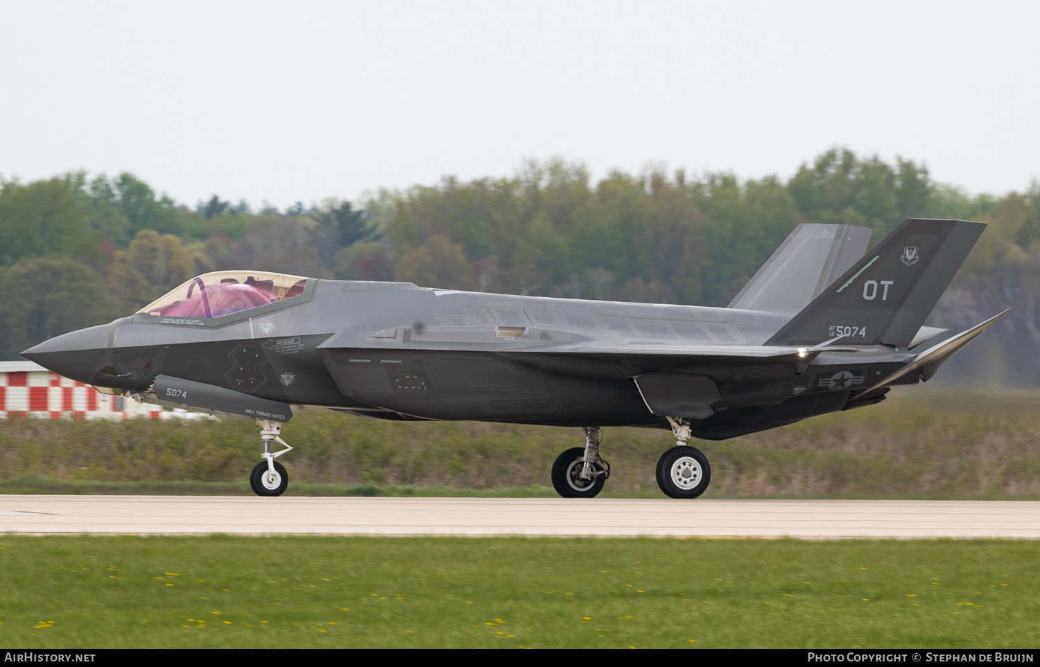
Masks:
[[[101,392],[255,420],[260,496],[285,491],[281,429],[309,405],[580,427],[584,446],[552,465],[565,498],[609,478],[601,427],[670,429],[657,484],[697,498],[711,470],[692,437],[877,403],[1000,317],[954,336],[922,326],[984,226],[910,219],[864,255],[868,229],[800,224],[725,309],[223,271],[22,354]]]

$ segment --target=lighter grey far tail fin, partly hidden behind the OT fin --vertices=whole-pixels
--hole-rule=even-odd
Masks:
[[[794,315],[863,257],[873,230],[799,224],[728,308]]]

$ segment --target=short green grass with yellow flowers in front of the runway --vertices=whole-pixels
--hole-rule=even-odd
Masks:
[[[1040,542],[0,538],[9,647],[1035,647]]]

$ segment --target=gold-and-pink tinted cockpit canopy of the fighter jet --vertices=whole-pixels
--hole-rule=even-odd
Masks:
[[[214,318],[284,301],[304,293],[308,278],[266,271],[214,271],[193,277],[138,313]]]

